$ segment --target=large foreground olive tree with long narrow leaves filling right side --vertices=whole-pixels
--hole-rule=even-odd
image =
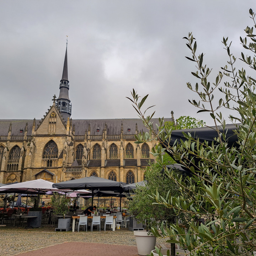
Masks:
[[[254,27],[246,27],[246,37],[240,38],[247,50],[247,54],[241,53],[240,60],[251,71],[256,71],[255,14],[251,9],[249,13]],[[196,54],[197,43],[192,33],[185,39],[191,51],[191,56],[186,58],[196,65],[191,74],[198,79],[194,85],[187,83],[188,89],[198,97],[198,100],[189,102],[199,109],[198,112],[209,113],[218,136],[215,142],[208,144],[185,134],[185,141],[177,141],[166,148],[160,144],[157,149],[152,149],[160,163],[163,163],[163,155],[168,151],[174,160],[189,168],[193,174],[183,180],[180,175],[165,169],[167,180],[176,183],[180,194],[175,197],[158,190],[154,194],[154,204],[192,214],[187,230],[173,223],[167,228],[162,226],[161,234],[154,228],[153,233],[167,237],[183,248],[187,247],[191,255],[253,255],[256,251],[256,79],[247,75],[245,68],[235,70],[237,58],[231,53],[228,38],[223,38],[228,65],[222,67],[223,73],[219,72],[211,81],[209,75],[212,69],[204,64],[203,53]],[[215,89],[221,91],[223,97],[216,100]],[[159,118],[161,128],[155,134],[151,122],[154,113],[146,116],[146,111],[142,111],[145,100],[139,102],[139,98],[133,90],[130,100],[149,132],[138,134],[138,143],[155,138],[168,143],[171,129],[164,126],[163,118]],[[226,126],[220,112],[223,107],[230,110],[229,122],[241,123],[234,131],[238,146],[230,147],[226,134],[222,132]],[[199,161],[197,165],[195,159]],[[205,225],[196,221],[201,217],[206,219]]]

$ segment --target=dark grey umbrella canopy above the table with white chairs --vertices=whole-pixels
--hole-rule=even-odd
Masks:
[[[100,178],[95,176],[54,183],[53,187],[69,188],[71,190],[87,189],[87,190],[123,192],[123,185],[121,182],[107,180],[105,178]]]

